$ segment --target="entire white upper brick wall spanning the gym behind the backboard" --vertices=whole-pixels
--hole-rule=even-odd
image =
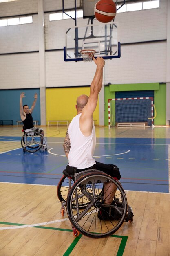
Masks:
[[[160,8],[157,9],[117,13],[115,21],[119,22],[120,42],[166,39],[167,1],[160,0]],[[74,6],[74,0],[64,2],[65,9]],[[0,16],[36,12],[37,5],[37,0],[1,3]],[[62,9],[61,0],[44,0],[44,11],[56,9]],[[62,49],[65,30],[75,25],[74,20],[49,22],[49,13],[45,13],[44,19],[46,49]],[[87,22],[87,19],[77,19],[78,26],[85,26]],[[97,23],[94,20],[94,24]],[[0,53],[38,50],[38,16],[33,16],[33,24],[0,27],[0,34]],[[38,56],[38,53],[0,55],[0,88],[37,87]],[[46,52],[47,87],[90,85],[94,72],[94,63],[64,62],[63,51]],[[106,61],[104,83],[108,82],[166,82],[166,42],[122,45],[121,58]]]

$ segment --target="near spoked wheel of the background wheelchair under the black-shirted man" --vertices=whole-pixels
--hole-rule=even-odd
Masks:
[[[22,136],[21,146],[27,152],[38,151],[43,144],[43,136],[39,132],[26,132]]]

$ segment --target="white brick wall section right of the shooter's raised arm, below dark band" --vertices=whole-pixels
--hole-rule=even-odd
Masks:
[[[107,60],[104,82],[166,82],[166,42],[121,47],[121,58]]]

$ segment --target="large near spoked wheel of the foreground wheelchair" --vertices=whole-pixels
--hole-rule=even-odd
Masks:
[[[117,186],[117,191],[108,211],[106,210],[108,205],[104,203],[101,191],[104,186],[108,191],[109,188],[113,191],[113,185]],[[109,197],[109,194],[107,196]],[[80,200],[87,204],[85,209],[80,209]],[[74,209],[73,203],[76,204]],[[102,218],[99,214],[101,211]],[[91,238],[105,238],[115,233],[124,223],[127,214],[126,195],[121,184],[109,175],[87,174],[80,177],[71,187],[67,197],[67,213],[73,227],[83,235]],[[107,219],[103,218],[105,213],[108,216]]]

